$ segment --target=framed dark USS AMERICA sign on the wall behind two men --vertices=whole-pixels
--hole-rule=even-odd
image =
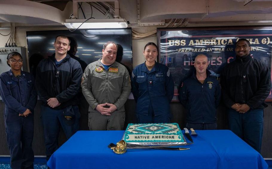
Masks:
[[[271,72],[272,27],[158,28],[157,38],[158,62],[169,67],[175,82],[172,101],[178,101],[179,85],[192,75],[198,54],[208,57],[208,70],[219,80],[222,68],[236,58],[235,44],[240,38],[250,41],[251,57],[267,64]],[[272,101],[271,93],[266,101]]]

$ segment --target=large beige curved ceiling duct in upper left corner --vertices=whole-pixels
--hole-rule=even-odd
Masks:
[[[64,24],[72,11],[72,2],[59,10],[47,4],[26,0],[1,0],[0,22],[17,22],[39,25]]]

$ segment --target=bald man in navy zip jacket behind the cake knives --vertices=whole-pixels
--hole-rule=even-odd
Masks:
[[[197,55],[194,65],[196,71],[181,84],[178,96],[187,110],[186,127],[197,130],[217,129],[216,108],[221,95],[219,82],[207,70],[207,56]]]

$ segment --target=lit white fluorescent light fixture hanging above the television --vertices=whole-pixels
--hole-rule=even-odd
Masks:
[[[82,24],[83,23],[83,24]],[[82,25],[81,25],[82,24]],[[64,25],[69,29],[127,28],[124,19],[66,19]],[[81,26],[80,26],[81,25]]]

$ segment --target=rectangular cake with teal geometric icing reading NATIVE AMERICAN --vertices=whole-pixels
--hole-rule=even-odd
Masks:
[[[136,139],[146,138],[148,140]],[[133,136],[133,137],[132,137]],[[158,139],[158,137],[159,139]],[[135,138],[136,137],[136,138]],[[154,138],[153,140],[151,139]],[[133,139],[135,138],[135,139]],[[162,139],[161,139],[162,138]],[[163,140],[165,138],[171,138],[169,140]],[[126,132],[124,134],[124,140],[126,142],[184,142],[181,129],[178,123],[146,123],[146,124],[128,124]]]

